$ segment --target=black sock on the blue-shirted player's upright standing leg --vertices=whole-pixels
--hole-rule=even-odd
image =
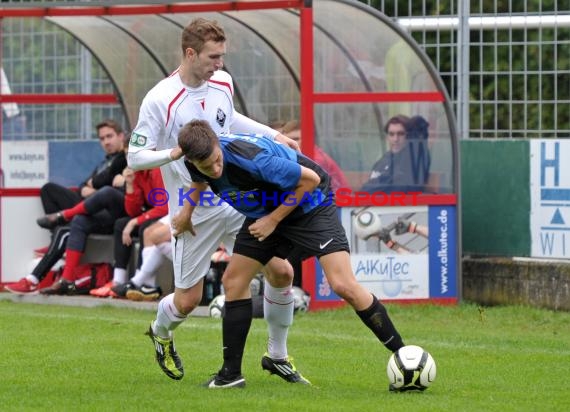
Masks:
[[[222,339],[224,344],[224,366],[220,374],[225,378],[241,375],[243,350],[252,319],[250,299],[226,302],[222,319]]]

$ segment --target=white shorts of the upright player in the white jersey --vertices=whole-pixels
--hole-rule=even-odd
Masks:
[[[214,218],[196,223],[196,236],[184,232],[173,238],[174,286],[189,289],[207,275],[212,253],[224,243],[228,253],[245,217],[231,207],[224,208]]]

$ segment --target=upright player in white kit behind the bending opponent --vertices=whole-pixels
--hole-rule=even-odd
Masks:
[[[169,195],[169,215],[182,208],[181,193],[190,188],[190,174],[178,147],[178,132],[193,119],[206,120],[216,133],[258,133],[294,149],[298,145],[276,130],[238,113],[233,104],[233,82],[220,69],[226,53],[225,34],[215,21],[193,20],[182,32],[182,62],[168,78],[145,96],[129,143],[128,162],[135,170],[160,166]],[[193,216],[196,236],[177,235],[174,227],[174,293],[158,305],[148,335],[156,360],[172,379],[182,379],[184,368],[176,352],[173,331],[199,304],[210,256],[220,242],[231,250],[244,216],[223,202],[198,206]],[[289,361],[287,333],[293,322],[293,270],[286,261],[272,259],[265,267],[264,317],[268,322],[268,350],[262,367],[288,382],[309,384]],[[239,301],[236,301],[239,304]],[[270,360],[268,362],[267,360]]]

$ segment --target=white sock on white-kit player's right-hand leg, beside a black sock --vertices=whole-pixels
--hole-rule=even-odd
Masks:
[[[274,288],[264,280],[263,317],[269,332],[267,352],[271,359],[287,358],[287,334],[293,324],[294,308],[291,286]]]

